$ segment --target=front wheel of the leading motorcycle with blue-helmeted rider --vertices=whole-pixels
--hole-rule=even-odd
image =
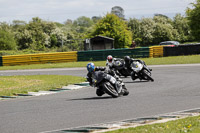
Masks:
[[[104,88],[104,91],[105,91],[108,95],[112,96],[113,98],[117,98],[117,97],[119,96],[119,94],[117,93],[115,87],[112,86],[112,85],[110,84],[110,82],[105,82],[105,83],[103,84],[103,88]]]

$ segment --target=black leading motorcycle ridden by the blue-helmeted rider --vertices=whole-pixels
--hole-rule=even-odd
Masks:
[[[105,76],[107,76],[107,73],[104,72],[98,72],[96,73],[96,76],[93,77],[93,83],[94,83],[94,87],[97,87],[97,89],[99,89],[100,91],[102,91],[102,94],[106,93],[110,96],[112,96],[113,98],[116,98],[118,96],[121,95],[128,95],[129,92],[125,87],[125,84],[123,83],[122,80],[117,80],[116,78],[114,78],[114,80],[116,80],[116,82],[118,82],[118,84],[120,84],[121,90],[118,90],[116,88],[115,84],[112,84],[109,80],[107,80],[105,78]],[[101,95],[99,95],[101,96]]]

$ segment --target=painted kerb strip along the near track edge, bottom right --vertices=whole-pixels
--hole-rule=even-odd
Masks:
[[[189,116],[199,116],[200,108],[184,110],[179,112],[172,112],[167,114],[161,114],[157,116],[143,117],[143,118],[134,118],[129,120],[123,120],[118,122],[110,122],[97,125],[88,125],[85,127],[76,127],[70,129],[60,129],[55,131],[46,131],[41,133],[102,133],[107,131],[113,131],[118,129],[126,129],[130,127],[138,127],[144,125],[150,125],[155,123],[164,123],[168,121],[183,119]]]

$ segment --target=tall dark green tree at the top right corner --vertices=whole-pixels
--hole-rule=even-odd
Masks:
[[[187,19],[189,20],[189,26],[191,28],[194,38],[200,40],[200,0],[196,0],[192,3],[193,8],[188,8],[186,11]]]

